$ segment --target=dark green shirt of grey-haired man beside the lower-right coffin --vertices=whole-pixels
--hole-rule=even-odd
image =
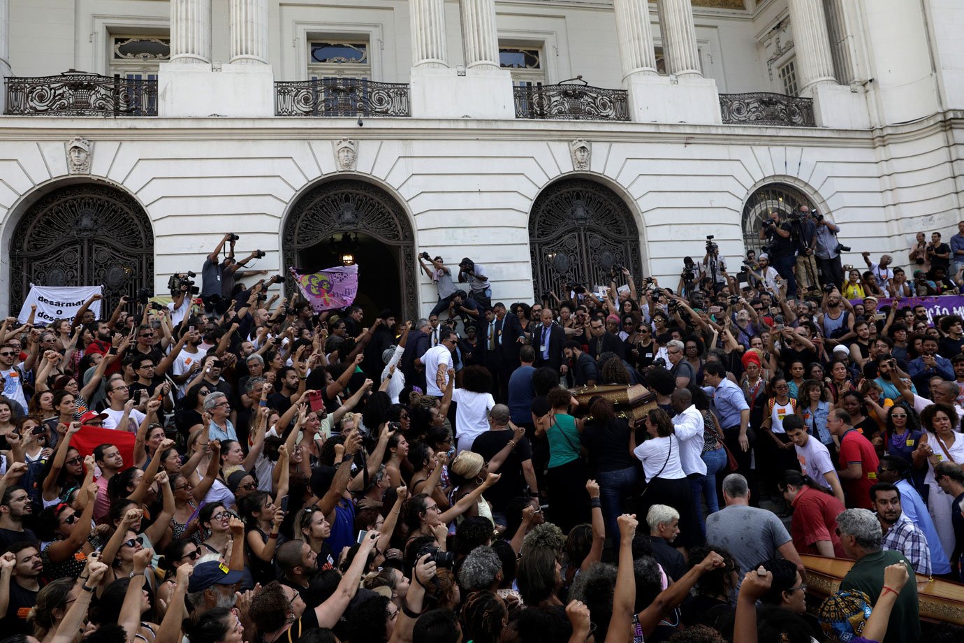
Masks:
[[[870,603],[877,603],[880,591],[884,588],[884,568],[893,565],[907,557],[900,551],[881,549],[869,553],[853,564],[850,571],[841,581],[841,589],[857,589],[870,597]],[[917,583],[914,581],[914,569],[907,565],[910,578],[900,590],[897,603],[891,611],[891,620],[887,624],[887,635],[883,643],[917,643],[921,638],[921,618],[918,615]]]

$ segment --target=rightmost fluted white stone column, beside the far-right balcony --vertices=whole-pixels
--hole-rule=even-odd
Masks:
[[[822,0],[790,0],[789,6],[800,95],[810,96],[816,85],[837,82],[827,18]]]

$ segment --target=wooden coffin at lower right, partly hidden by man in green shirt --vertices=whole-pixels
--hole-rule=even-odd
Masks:
[[[840,589],[841,581],[853,566],[852,560],[800,554],[807,568],[807,586],[821,597]],[[917,575],[917,596],[921,620],[964,626],[964,585],[940,578]],[[876,601],[877,597],[870,597]]]

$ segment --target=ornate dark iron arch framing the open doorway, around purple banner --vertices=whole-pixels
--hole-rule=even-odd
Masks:
[[[301,251],[335,234],[362,232],[397,249],[403,317],[418,314],[415,233],[402,206],[385,190],[356,179],[322,183],[298,200],[284,224],[284,267],[298,267]],[[390,258],[388,259],[390,260]],[[288,275],[288,290],[294,282]]]

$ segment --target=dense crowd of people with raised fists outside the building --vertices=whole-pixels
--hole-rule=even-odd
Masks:
[[[889,257],[893,303],[852,303],[839,228],[795,218],[675,291],[617,267],[506,306],[423,254],[415,320],[271,294],[226,234],[197,298],[4,321],[5,640],[961,640],[914,582],[961,579],[961,319]],[[853,561],[839,592],[805,554]]]

